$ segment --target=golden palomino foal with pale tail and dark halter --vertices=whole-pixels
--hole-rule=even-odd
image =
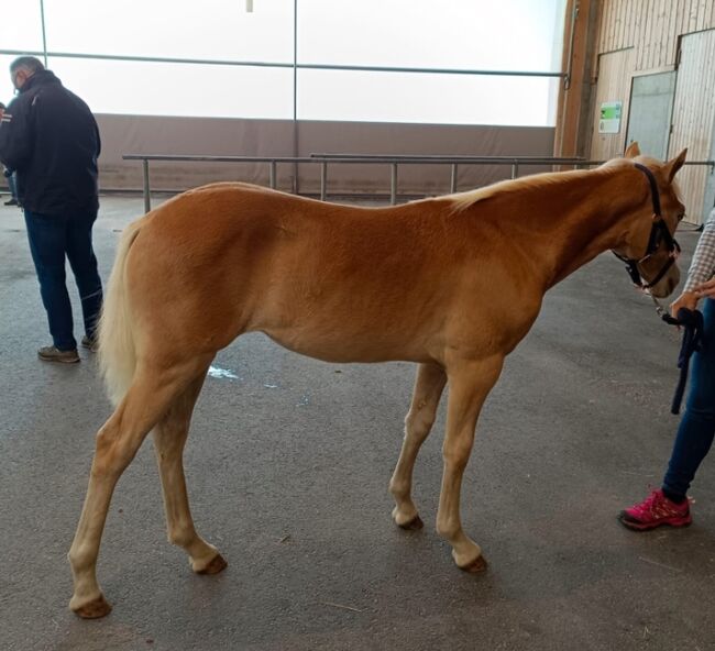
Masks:
[[[460,488],[504,358],[534,323],[546,290],[603,251],[656,280],[654,296],[673,290],[679,272],[668,243],[683,214],[673,177],[684,158],[660,163],[636,146],[597,169],[394,208],[216,184],[133,222],[119,244],[100,327],[116,410],[97,434],[69,551],[70,608],[81,617],[111,608],[96,578],[100,539],[117,481],[152,430],[169,540],[187,551],[195,572],[226,566],[194,528],[183,450],[213,356],[249,331],[329,362],[419,364],[389,485],[400,527],[421,526],[413,466],[449,382],[437,530],[458,566],[483,570],[482,550],[462,530]]]

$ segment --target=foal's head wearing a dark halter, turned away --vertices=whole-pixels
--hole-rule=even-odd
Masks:
[[[625,157],[632,159],[629,164],[635,164],[650,190],[642,210],[638,211],[614,253],[626,262],[634,283],[657,298],[672,294],[680,282],[675,263],[680,246],[673,235],[685,214],[685,207],[678,197],[673,179],[685,162],[686,152],[683,150],[672,161],[661,163],[641,156],[637,143],[626,151]]]

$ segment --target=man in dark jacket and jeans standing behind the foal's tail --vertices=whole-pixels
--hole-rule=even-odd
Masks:
[[[0,161],[16,174],[18,199],[53,339],[37,355],[46,362],[79,362],[65,258],[81,299],[81,343],[94,350],[102,302],[92,249],[99,210],[99,129],[87,104],[35,57],[16,58],[10,76],[19,95],[0,122]]]

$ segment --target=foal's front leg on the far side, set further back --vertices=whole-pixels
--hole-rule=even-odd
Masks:
[[[399,460],[389,482],[395,498],[393,518],[404,529],[419,529],[422,521],[413,501],[413,470],[417,453],[435,422],[439,399],[447,383],[444,369],[437,364],[420,364],[409,412],[405,418],[405,438]]]

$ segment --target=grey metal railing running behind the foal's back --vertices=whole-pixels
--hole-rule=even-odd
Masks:
[[[579,157],[554,157],[554,156],[442,156],[442,155],[405,155],[393,156],[372,154],[310,154],[310,156],[194,156],[194,155],[170,155],[170,154],[124,154],[124,161],[141,161],[143,172],[143,195],[144,210],[152,209],[151,184],[150,184],[150,161],[166,162],[196,162],[196,163],[266,163],[268,165],[268,185],[275,189],[277,185],[277,166],[285,163],[290,165],[311,164],[320,165],[320,199],[328,198],[328,166],[334,164],[384,164],[389,165],[389,202],[394,206],[397,202],[397,167],[398,165],[450,165],[450,191],[457,191],[457,174],[460,165],[509,165],[512,178],[517,178],[522,166],[534,165],[569,165],[574,168],[591,167],[601,165],[604,161],[586,161]],[[685,165],[706,165],[710,173],[715,172],[715,161],[688,161]]]

